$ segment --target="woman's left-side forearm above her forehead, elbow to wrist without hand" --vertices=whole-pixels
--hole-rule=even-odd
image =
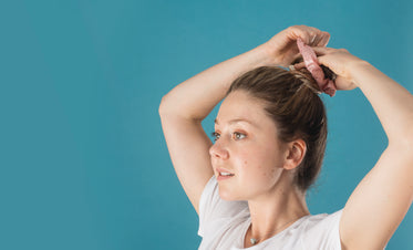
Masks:
[[[159,113],[202,121],[225,97],[237,76],[257,66],[276,64],[265,45],[259,45],[175,86],[162,98]]]

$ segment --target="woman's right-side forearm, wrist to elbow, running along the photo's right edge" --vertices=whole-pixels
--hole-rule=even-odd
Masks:
[[[352,67],[352,79],[373,106],[389,144],[413,139],[413,95],[399,83],[362,61]]]

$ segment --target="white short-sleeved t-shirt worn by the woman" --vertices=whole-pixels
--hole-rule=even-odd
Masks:
[[[276,236],[248,249],[341,250],[339,222],[342,209],[331,215],[308,215]],[[244,249],[244,237],[251,222],[247,201],[223,200],[213,176],[199,200],[198,250]]]

